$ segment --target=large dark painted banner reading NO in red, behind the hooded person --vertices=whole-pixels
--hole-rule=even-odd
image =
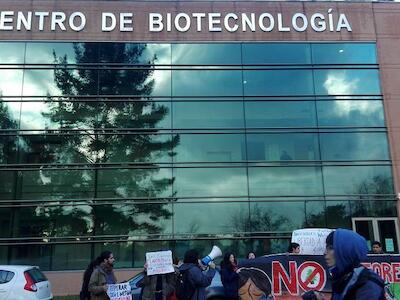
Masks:
[[[363,265],[389,283],[387,299],[400,300],[399,255],[370,255]],[[326,293],[325,298],[330,299],[331,282],[322,255],[269,255],[239,265],[242,300],[259,300],[263,294],[275,300],[300,300],[301,294],[310,290]],[[261,293],[250,295],[251,291]]]

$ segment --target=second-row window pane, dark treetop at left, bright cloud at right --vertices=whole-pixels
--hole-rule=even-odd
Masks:
[[[101,95],[171,96],[169,70],[107,70],[99,72]]]

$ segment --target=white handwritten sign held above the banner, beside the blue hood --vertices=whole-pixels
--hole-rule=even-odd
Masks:
[[[323,255],[326,237],[332,229],[309,228],[293,231],[292,242],[300,244],[300,254]]]

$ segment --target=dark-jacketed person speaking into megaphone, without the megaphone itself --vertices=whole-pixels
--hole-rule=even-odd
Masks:
[[[199,254],[196,250],[188,250],[179,267],[181,278],[185,279],[184,295],[177,294],[179,300],[205,300],[205,288],[211,284],[215,275],[215,264],[211,262],[207,271],[202,271],[199,264]],[[187,279],[187,280],[186,280]],[[178,292],[178,291],[177,291]]]

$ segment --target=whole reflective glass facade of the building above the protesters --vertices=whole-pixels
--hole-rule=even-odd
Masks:
[[[243,257],[396,216],[373,43],[2,42],[0,78],[0,263]]]

